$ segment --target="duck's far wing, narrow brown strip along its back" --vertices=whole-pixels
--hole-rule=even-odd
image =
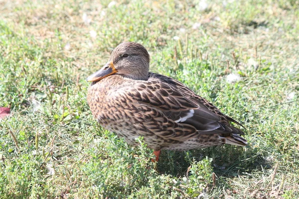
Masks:
[[[238,121],[236,121],[235,119],[233,119],[230,116],[227,116],[225,114],[223,114],[216,106],[214,106],[211,102],[209,102],[208,100],[196,95],[192,90],[190,90],[188,87],[186,87],[185,85],[183,85],[182,83],[180,83],[177,80],[174,80],[173,78],[161,75],[161,74],[157,74],[157,73],[149,73],[149,78],[157,78],[162,82],[165,82],[169,85],[173,85],[177,90],[184,92],[184,93],[189,93],[189,95],[192,95],[194,98],[196,98],[197,100],[199,100],[200,102],[202,102],[210,111],[214,112],[215,114],[217,114],[220,118],[221,118],[221,122],[228,124],[228,121],[230,122],[234,122],[240,126],[242,126],[243,128],[245,128],[242,124],[240,124]],[[244,134],[243,132],[240,134]]]

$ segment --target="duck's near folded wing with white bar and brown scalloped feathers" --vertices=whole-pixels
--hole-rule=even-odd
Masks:
[[[128,106],[132,110],[136,104],[139,107],[144,105],[143,115],[138,115],[142,125],[164,139],[185,141],[199,133],[243,133],[233,126],[219,122],[219,115],[209,110],[196,96],[190,95],[190,92],[181,92],[157,79],[137,82],[112,95],[117,97],[116,100],[129,102]]]

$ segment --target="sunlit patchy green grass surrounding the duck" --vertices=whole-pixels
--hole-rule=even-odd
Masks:
[[[299,198],[299,2],[206,2],[0,2],[0,198]],[[249,145],[151,163],[142,138],[103,129],[85,79],[123,41],[240,121]]]

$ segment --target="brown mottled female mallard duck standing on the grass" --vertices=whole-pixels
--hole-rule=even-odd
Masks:
[[[143,136],[156,161],[160,149],[247,144],[243,131],[229,122],[240,123],[182,83],[149,72],[149,53],[141,44],[118,45],[87,81],[92,82],[87,100],[97,121],[132,145]]]

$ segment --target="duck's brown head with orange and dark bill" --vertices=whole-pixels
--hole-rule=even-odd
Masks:
[[[109,61],[87,78],[88,82],[102,80],[112,74],[120,74],[134,80],[147,80],[149,74],[149,53],[141,44],[124,42],[118,45]]]

